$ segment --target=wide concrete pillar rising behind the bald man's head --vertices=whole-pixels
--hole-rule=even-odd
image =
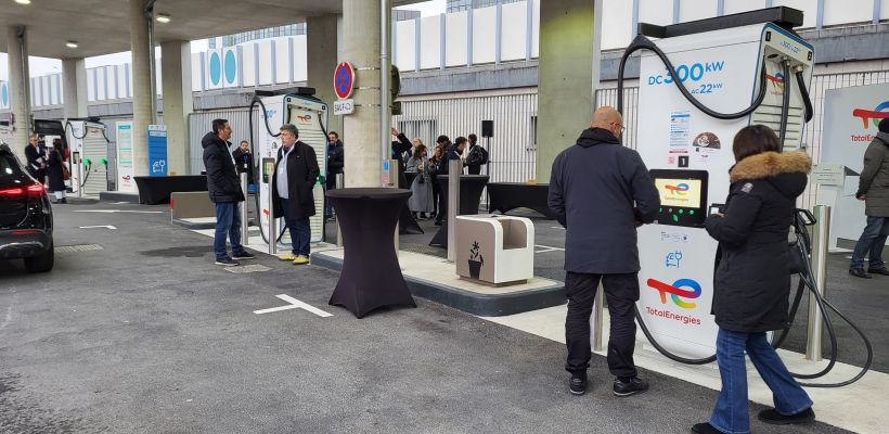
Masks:
[[[537,179],[550,182],[553,161],[589,128],[594,110],[594,2],[547,1],[540,8]]]

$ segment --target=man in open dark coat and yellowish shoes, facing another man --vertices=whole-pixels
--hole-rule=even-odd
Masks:
[[[274,217],[284,217],[291,231],[293,248],[291,254],[279,256],[294,265],[309,264],[309,242],[312,229],[309,217],[313,216],[314,195],[312,190],[321,174],[312,146],[297,140],[299,130],[287,124],[281,127],[281,149],[272,177]]]

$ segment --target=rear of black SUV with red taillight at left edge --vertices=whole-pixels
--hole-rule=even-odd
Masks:
[[[0,142],[0,259],[17,258],[28,272],[52,269],[52,207],[43,186]]]

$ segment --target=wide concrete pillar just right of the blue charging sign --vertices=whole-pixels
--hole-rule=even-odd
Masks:
[[[164,94],[164,124],[167,125],[169,175],[190,175],[189,114],[192,100],[192,52],[189,41],[160,44],[160,77]]]

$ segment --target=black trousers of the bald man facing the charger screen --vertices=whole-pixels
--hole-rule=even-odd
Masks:
[[[568,372],[587,372],[592,348],[590,344],[590,316],[593,314],[598,282],[605,288],[611,335],[608,340],[608,370],[618,378],[636,375],[633,363],[636,323],[634,304],[639,301],[639,276],[588,275],[568,271],[565,292],[568,296],[568,316],[565,319],[565,340],[568,344]]]

